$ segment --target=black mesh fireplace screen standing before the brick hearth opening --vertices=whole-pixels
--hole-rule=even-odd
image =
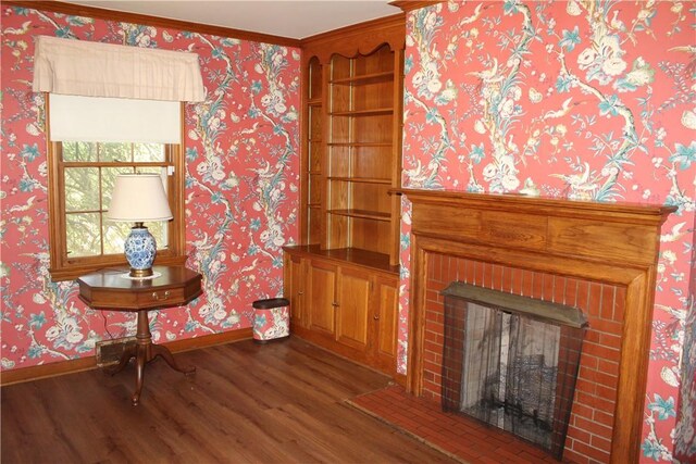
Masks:
[[[582,312],[463,283],[443,294],[443,410],[560,459],[587,326]]]

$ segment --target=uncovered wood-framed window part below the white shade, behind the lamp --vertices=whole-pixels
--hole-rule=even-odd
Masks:
[[[122,173],[158,173],[174,216],[146,223],[158,243],[156,264],[183,264],[184,173],[181,147],[173,143],[55,141],[50,153],[51,276],[76,278],[126,265],[123,246],[130,225],[109,222],[115,178]]]

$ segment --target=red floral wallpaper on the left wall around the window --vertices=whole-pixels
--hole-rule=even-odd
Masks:
[[[74,281],[48,273],[46,105],[32,92],[39,35],[198,53],[207,99],[186,105],[186,251],[203,296],[151,312],[150,328],[169,341],[250,327],[252,301],[282,293],[281,247],[297,239],[299,50],[3,5],[2,369],[92,355],[136,324],[86,308]]]

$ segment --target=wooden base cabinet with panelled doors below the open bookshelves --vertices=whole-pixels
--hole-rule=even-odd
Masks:
[[[396,376],[397,276],[352,258],[316,246],[285,249],[285,294],[303,308],[290,308],[293,333]]]

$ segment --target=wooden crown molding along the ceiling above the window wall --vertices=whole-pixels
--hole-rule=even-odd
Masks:
[[[108,2],[104,2],[108,4]],[[22,1],[22,0],[3,0],[2,5],[28,8],[40,11],[52,11],[55,13],[70,14],[73,16],[96,17],[105,21],[119,21],[124,23],[145,24],[148,26],[171,27],[174,29],[186,30],[191,33],[208,34],[211,36],[231,37],[240,40],[249,40],[254,42],[275,43],[286,47],[298,47],[300,40],[274,36],[271,34],[251,33],[249,30],[234,29],[232,27],[213,26],[210,24],[192,23],[181,20],[170,20],[166,17],[152,16],[149,14],[126,13],[123,11],[108,10],[96,7],[85,7],[75,3],[65,3],[61,1]]]

